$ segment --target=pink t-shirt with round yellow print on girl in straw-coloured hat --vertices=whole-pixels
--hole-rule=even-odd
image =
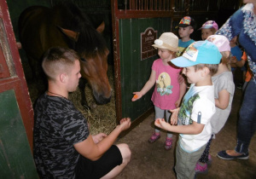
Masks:
[[[171,63],[170,63],[171,64]],[[155,71],[155,87],[151,100],[154,106],[160,109],[175,109],[175,102],[179,98],[178,75],[181,68],[172,65],[165,66],[161,59],[155,60],[152,65]]]

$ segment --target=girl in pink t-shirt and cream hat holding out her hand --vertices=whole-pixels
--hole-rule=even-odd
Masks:
[[[154,61],[150,78],[143,89],[133,92],[135,95],[131,99],[131,101],[137,101],[155,86],[151,98],[154,103],[154,119],[166,117],[166,122],[170,121],[172,114],[169,110],[179,107],[186,91],[186,84],[184,82],[179,84],[177,80],[181,68],[174,66],[171,62],[176,58],[177,45],[178,38],[172,32],[165,32],[154,41],[152,46],[158,49],[160,59]],[[171,121],[171,124],[177,124],[177,121]],[[155,128],[148,141],[153,143],[159,138],[160,129]],[[166,150],[172,148],[172,133],[167,133],[165,148]]]

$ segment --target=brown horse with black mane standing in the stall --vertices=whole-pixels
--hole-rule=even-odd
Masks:
[[[74,49],[80,56],[82,78],[90,84],[99,104],[106,104],[111,98],[108,82],[108,48],[100,34],[104,23],[95,29],[88,17],[70,2],[55,5],[52,9],[32,6],[20,14],[20,42],[33,77],[42,75],[41,58],[50,47],[62,46]],[[80,81],[82,104],[87,106],[84,94],[85,84]]]

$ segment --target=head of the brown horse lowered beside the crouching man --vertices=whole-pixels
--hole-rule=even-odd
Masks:
[[[109,50],[100,34],[103,32],[104,26],[104,22],[96,30],[92,26],[84,26],[86,31],[82,32],[61,28],[61,31],[75,42],[74,49],[80,56],[82,78],[85,78],[90,84],[93,95],[99,104],[108,103],[112,95],[107,75]],[[86,101],[85,103],[87,105]]]

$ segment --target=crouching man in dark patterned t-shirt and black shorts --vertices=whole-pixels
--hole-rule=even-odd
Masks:
[[[113,145],[130,118],[107,136],[90,135],[83,114],[68,100],[79,85],[79,56],[73,49],[51,48],[44,55],[43,69],[48,91],[38,98],[34,112],[34,160],[40,178],[113,178],[131,159],[126,144]]]

